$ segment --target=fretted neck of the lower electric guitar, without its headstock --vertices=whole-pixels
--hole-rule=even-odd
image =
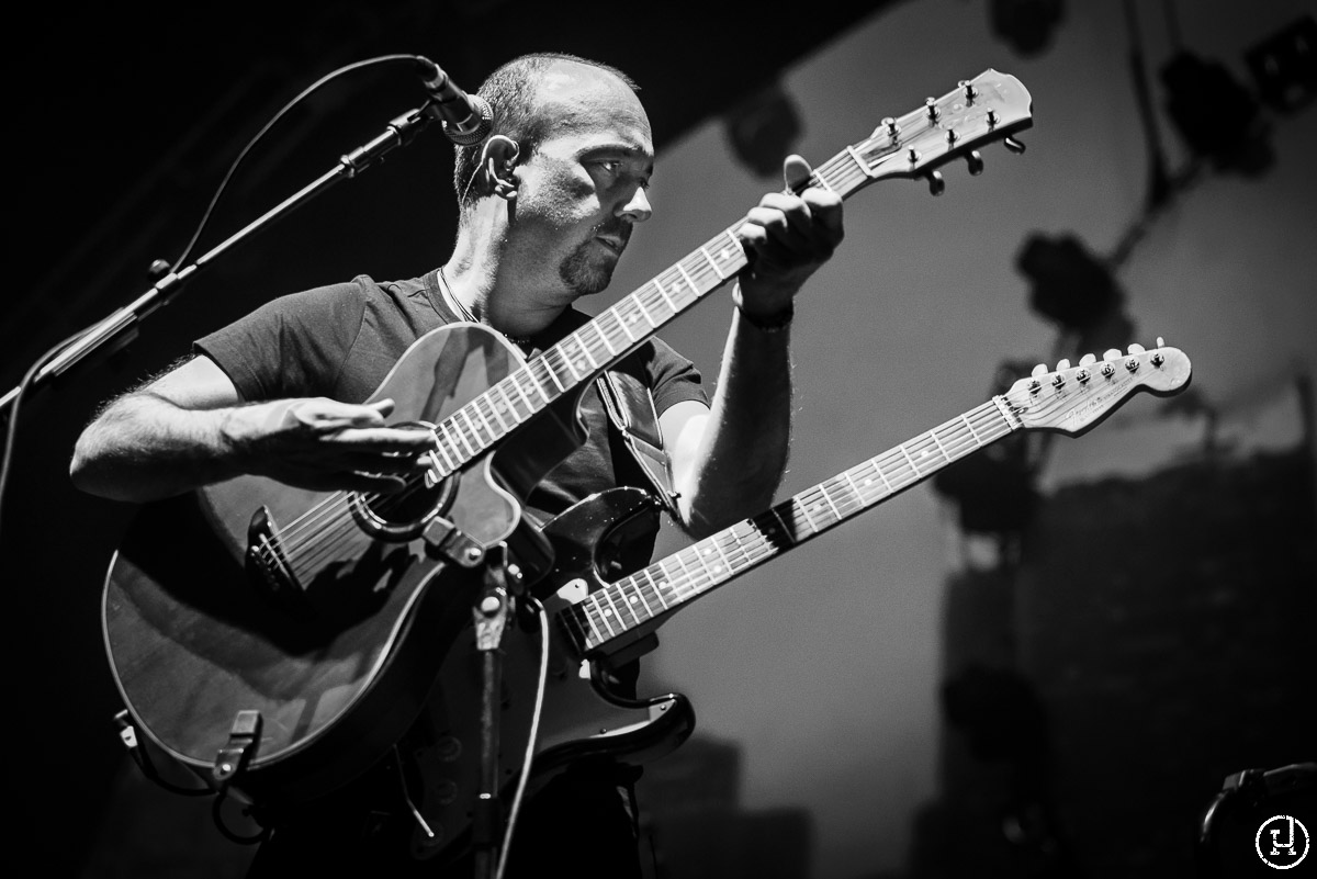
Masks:
[[[764,513],[706,537],[560,612],[582,653],[677,611],[751,568],[1018,429],[1005,396],[856,465]]]

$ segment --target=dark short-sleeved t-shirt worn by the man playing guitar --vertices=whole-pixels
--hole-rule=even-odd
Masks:
[[[425,333],[462,320],[441,293],[439,272],[400,282],[360,275],[266,303],[195,342],[223,368],[246,401],[325,396],[344,403],[369,399],[403,353]],[[523,349],[527,358],[552,346],[590,318],[568,309]],[[651,388],[661,414],[684,400],[709,403],[695,366],[653,338],[615,368]],[[644,471],[610,429],[598,388],[581,395],[586,442],[568,455],[525,499],[540,518],[614,486],[649,488]]]

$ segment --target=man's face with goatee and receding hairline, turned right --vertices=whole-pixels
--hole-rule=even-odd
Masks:
[[[612,75],[564,63],[540,89],[548,136],[519,168],[504,259],[576,299],[608,286],[632,225],[649,218],[649,120]]]

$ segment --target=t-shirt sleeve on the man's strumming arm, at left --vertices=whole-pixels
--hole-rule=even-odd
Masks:
[[[192,343],[215,361],[244,400],[329,396],[361,332],[358,282],[290,293]]]

